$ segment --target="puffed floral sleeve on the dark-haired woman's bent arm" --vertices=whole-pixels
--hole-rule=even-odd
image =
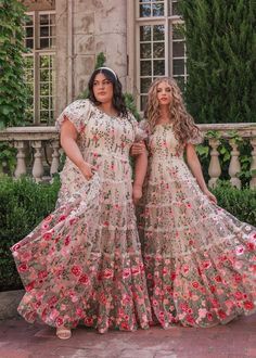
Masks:
[[[75,126],[77,132],[80,133],[90,118],[91,107],[92,104],[89,100],[72,102],[56,119],[55,127],[57,131],[61,130],[62,124],[68,119]]]

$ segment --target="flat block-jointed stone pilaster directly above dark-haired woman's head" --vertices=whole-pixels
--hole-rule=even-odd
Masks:
[[[117,73],[125,89],[126,1],[75,1],[73,23],[75,97],[86,89],[100,52],[105,54],[105,64]]]

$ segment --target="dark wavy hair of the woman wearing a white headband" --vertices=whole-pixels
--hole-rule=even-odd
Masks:
[[[112,104],[115,107],[115,110],[117,111],[118,115],[123,116],[123,117],[128,117],[128,112],[127,112],[127,107],[125,104],[125,97],[121,92],[121,82],[119,81],[117,75],[115,76],[114,72],[112,73],[112,71],[107,69],[107,68],[97,68],[91,77],[90,80],[88,82],[88,89],[89,89],[89,100],[94,103],[95,105],[99,105],[101,102],[97,101],[94,93],[93,93],[93,82],[95,79],[95,76],[98,74],[103,74],[112,84],[113,84],[113,99],[112,99]]]

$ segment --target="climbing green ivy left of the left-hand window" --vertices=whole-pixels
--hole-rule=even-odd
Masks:
[[[17,0],[0,0],[0,128],[23,125],[25,12]]]

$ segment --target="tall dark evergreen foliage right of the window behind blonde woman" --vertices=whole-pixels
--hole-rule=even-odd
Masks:
[[[187,105],[200,123],[256,120],[256,1],[180,0]]]

